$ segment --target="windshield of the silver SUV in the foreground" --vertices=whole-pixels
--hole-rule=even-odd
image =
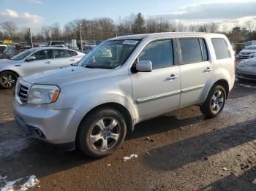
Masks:
[[[91,69],[116,69],[127,61],[127,58],[138,44],[139,41],[137,40],[102,42],[86,55],[78,65]]]

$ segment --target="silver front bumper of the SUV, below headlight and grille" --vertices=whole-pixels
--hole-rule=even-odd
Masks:
[[[82,116],[75,109],[53,109],[53,104],[20,105],[14,101],[15,120],[27,133],[51,144],[75,142]],[[35,129],[42,136],[35,135]]]

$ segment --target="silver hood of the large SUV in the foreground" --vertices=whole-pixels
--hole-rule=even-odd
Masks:
[[[54,69],[22,77],[32,84],[67,85],[112,76],[111,69],[88,69],[82,66],[69,66],[64,69]]]

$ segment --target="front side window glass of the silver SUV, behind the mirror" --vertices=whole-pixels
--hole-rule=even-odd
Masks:
[[[138,61],[151,61],[153,69],[173,66],[172,40],[151,42],[140,53]]]

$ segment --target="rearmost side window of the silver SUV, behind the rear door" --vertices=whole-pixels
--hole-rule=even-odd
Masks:
[[[227,42],[222,38],[213,38],[211,43],[214,46],[214,52],[217,60],[230,58],[230,52],[227,47]]]

